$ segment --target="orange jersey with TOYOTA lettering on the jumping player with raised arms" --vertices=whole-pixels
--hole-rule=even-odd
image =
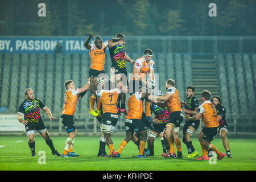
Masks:
[[[102,43],[101,49],[98,49],[95,45],[92,45],[89,50],[90,60],[92,61],[90,68],[96,69],[97,71],[104,70],[105,52],[107,46],[108,42]]]

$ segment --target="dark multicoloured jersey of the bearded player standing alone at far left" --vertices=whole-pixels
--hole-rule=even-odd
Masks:
[[[46,105],[44,105],[38,98],[35,98],[32,101],[24,100],[19,106],[18,114],[24,114],[24,120],[28,122],[39,122],[42,120],[40,108],[44,109],[44,107],[46,107]]]

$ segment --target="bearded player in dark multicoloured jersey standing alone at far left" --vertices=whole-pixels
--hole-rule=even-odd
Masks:
[[[56,120],[55,117],[52,116],[51,111],[48,109],[46,105],[43,104],[38,98],[35,98],[34,92],[31,88],[25,90],[26,100],[22,102],[19,106],[18,110],[18,121],[25,126],[27,137],[28,137],[28,146],[31,150],[31,156],[35,156],[35,130],[42,135],[42,137],[46,140],[47,145],[51,148],[52,154],[56,156],[61,156],[59,152],[57,152],[53,146],[52,139],[49,137],[49,133],[44,126],[43,120],[40,114],[40,108],[43,109],[49,116],[50,120]],[[22,116],[24,115],[24,120]]]

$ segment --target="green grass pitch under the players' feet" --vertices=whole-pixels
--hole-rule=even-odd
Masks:
[[[63,152],[67,137],[52,137],[55,148]],[[121,158],[97,158],[100,137],[76,137],[74,151],[80,154],[78,158],[61,158],[53,156],[51,150],[41,136],[35,137],[36,157],[32,158],[28,147],[27,137],[0,137],[0,170],[93,170],[93,171],[158,171],[158,170],[245,170],[256,169],[256,139],[229,139],[232,159],[217,160],[217,164],[195,159],[164,159],[160,139],[155,140],[155,156],[137,159],[138,148],[129,142],[122,151]],[[113,137],[114,149],[117,151],[123,137]],[[18,143],[17,143],[18,141]],[[21,142],[22,141],[22,142]],[[199,155],[202,154],[197,138],[192,138],[193,146]],[[221,139],[216,137],[212,142],[220,151],[225,152]],[[46,152],[46,164],[39,164],[39,151]],[[109,154],[109,149],[106,147]],[[183,156],[187,154],[187,147],[182,143]]]

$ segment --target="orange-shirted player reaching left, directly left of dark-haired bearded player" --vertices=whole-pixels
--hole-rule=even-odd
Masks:
[[[164,96],[148,96],[148,99],[166,101],[170,110],[170,118],[166,125],[166,130],[164,131],[164,137],[168,140],[170,145],[170,152],[168,152],[168,156],[171,158],[183,158],[181,152],[181,141],[177,133],[179,132],[180,123],[183,121],[184,115],[181,111],[179,92],[174,86],[175,81],[168,79],[166,81],[166,94]],[[174,142],[177,146],[177,156],[175,154],[174,143],[171,135],[174,137]]]

